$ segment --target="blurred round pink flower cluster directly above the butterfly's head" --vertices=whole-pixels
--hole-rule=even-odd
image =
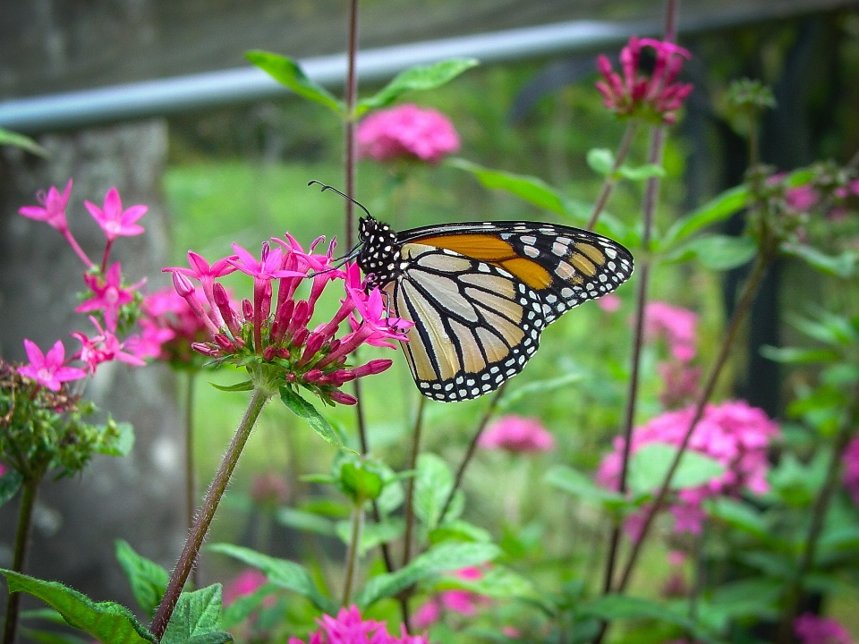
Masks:
[[[355,137],[358,155],[376,161],[435,164],[459,149],[459,135],[447,116],[409,103],[370,114],[358,125]]]

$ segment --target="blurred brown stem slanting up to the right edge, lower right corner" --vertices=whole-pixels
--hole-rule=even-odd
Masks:
[[[838,489],[838,470],[841,459],[844,456],[847,444],[855,435],[856,421],[859,416],[859,386],[855,386],[852,397],[847,404],[844,418],[838,427],[835,443],[832,445],[832,454],[829,458],[829,467],[826,470],[826,479],[821,487],[821,492],[814,501],[812,508],[812,521],[808,526],[808,535],[805,538],[803,554],[796,569],[796,575],[790,589],[787,591],[785,609],[781,621],[778,624],[778,644],[789,644],[792,641],[793,623],[797,609],[803,598],[803,587],[805,577],[812,570],[814,555],[820,542],[821,532],[829,504]]]

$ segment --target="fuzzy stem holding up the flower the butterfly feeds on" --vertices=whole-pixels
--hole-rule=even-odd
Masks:
[[[188,540],[185,541],[182,555],[179,556],[179,561],[176,563],[173,574],[170,577],[170,583],[167,584],[164,597],[161,599],[161,604],[158,605],[155,618],[152,620],[150,630],[155,635],[157,640],[161,640],[166,631],[167,623],[170,622],[170,616],[173,614],[176,602],[179,601],[179,595],[182,594],[182,589],[185,581],[188,580],[188,575],[197,561],[197,556],[200,554],[200,547],[203,545],[203,539],[206,538],[208,527],[215,518],[217,504],[220,503],[221,497],[224,496],[226,486],[230,482],[230,477],[233,475],[235,465],[239,462],[239,456],[242,454],[244,445],[248,442],[248,437],[251,436],[251,429],[259,418],[259,412],[265,406],[268,399],[271,397],[266,391],[259,388],[253,390],[251,394],[251,402],[248,403],[248,408],[244,412],[242,422],[233,436],[233,441],[227,448],[224,454],[224,459],[221,461],[220,467],[217,469],[215,479],[212,479],[211,485],[206,493],[206,500],[198,513],[194,526],[191,529],[191,534]]]

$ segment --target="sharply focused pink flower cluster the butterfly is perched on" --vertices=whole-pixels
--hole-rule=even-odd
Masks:
[[[350,367],[347,360],[361,344],[395,348],[391,340],[404,340],[412,325],[390,318],[377,289],[369,294],[356,265],[342,270],[334,265],[332,242],[324,255],[314,253],[319,238],[305,252],[288,233],[262,244],[259,259],[234,244],[234,254],[209,265],[200,255],[189,252],[190,268],[165,268],[173,273],[174,287],[208,330],[208,342],[191,348],[220,363],[231,361],[245,366],[267,386],[301,386],[325,402],[354,404],[355,399],[340,387],[357,377],[378,374],[392,360],[370,360]],[[251,299],[234,306],[219,277],[240,271],[253,278]],[[191,283],[200,284],[200,292]],[[305,280],[310,295],[295,295]],[[345,297],[328,322],[310,328],[317,301],[327,284],[339,281]],[[359,319],[360,318],[360,319]],[[347,322],[350,332],[336,337]],[[257,382],[257,384],[261,384]]]

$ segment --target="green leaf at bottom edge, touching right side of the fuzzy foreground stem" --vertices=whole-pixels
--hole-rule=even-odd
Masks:
[[[221,585],[183,592],[161,644],[224,644],[233,636],[221,626]]]

